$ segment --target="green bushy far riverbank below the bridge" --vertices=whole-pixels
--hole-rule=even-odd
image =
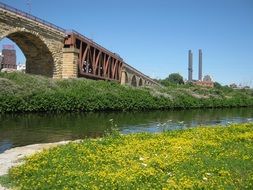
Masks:
[[[189,109],[253,106],[252,90],[188,85],[122,86],[87,79],[53,80],[0,73],[0,113]]]

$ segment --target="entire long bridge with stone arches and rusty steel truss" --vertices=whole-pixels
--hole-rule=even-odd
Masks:
[[[0,3],[0,40],[5,37],[23,51],[27,73],[110,80],[132,86],[158,85],[118,54],[82,34]]]

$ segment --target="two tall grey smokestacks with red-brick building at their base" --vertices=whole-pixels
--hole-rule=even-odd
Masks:
[[[198,80],[193,80],[192,77],[193,73],[193,54],[192,51],[189,50],[188,52],[188,82],[191,82],[198,86],[206,86],[206,87],[213,87],[214,82],[212,78],[209,75],[204,76],[204,79],[202,80],[202,50],[199,49],[199,73],[198,73]]]

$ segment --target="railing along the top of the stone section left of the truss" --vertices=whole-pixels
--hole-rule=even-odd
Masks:
[[[23,17],[25,17],[25,18],[28,18],[28,19],[30,19],[30,20],[34,20],[34,21],[36,21],[36,22],[39,22],[39,23],[41,23],[41,24],[44,24],[44,25],[46,25],[46,26],[48,26],[48,27],[50,27],[50,28],[56,29],[56,30],[61,31],[61,32],[63,32],[63,33],[65,32],[65,29],[63,29],[63,28],[61,28],[61,27],[59,27],[59,26],[56,26],[55,24],[52,24],[52,23],[50,23],[50,22],[48,22],[48,21],[45,21],[45,20],[43,20],[43,19],[40,19],[40,18],[38,18],[38,17],[36,17],[36,16],[33,16],[33,15],[29,14],[29,13],[26,13],[26,12],[24,12],[24,11],[18,10],[18,9],[16,9],[16,8],[11,7],[11,6],[9,6],[9,5],[6,5],[6,4],[4,4],[4,3],[2,3],[2,2],[0,2],[0,8],[2,8],[2,9],[4,9],[4,10],[7,10],[7,11],[10,11],[10,12],[13,12],[13,13],[15,13],[15,14],[18,14],[18,15],[23,16]]]

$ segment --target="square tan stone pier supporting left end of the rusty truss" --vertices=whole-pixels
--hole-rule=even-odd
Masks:
[[[71,47],[63,48],[62,52],[62,78],[77,78],[79,50],[74,47]]]

